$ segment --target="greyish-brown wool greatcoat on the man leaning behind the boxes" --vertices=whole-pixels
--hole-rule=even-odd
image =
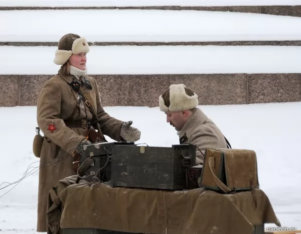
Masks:
[[[194,110],[191,118],[179,132],[179,137],[184,139],[181,144],[194,144],[200,148],[203,154],[205,154],[206,148],[227,148],[226,140],[220,129],[200,108]],[[198,149],[196,154],[197,163],[203,163],[204,156]]]

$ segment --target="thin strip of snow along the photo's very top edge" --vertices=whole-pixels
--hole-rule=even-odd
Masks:
[[[300,0],[2,0],[0,7],[139,7],[300,5]]]

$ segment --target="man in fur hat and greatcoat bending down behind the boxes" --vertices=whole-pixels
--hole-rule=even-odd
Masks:
[[[180,144],[196,145],[196,163],[202,164],[206,148],[227,148],[221,130],[198,108],[198,96],[184,84],[172,84],[159,97],[159,107],[176,130]]]

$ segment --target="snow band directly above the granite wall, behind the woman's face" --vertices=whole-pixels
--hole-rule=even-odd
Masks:
[[[1,46],[0,74],[56,74],[56,49]],[[87,68],[89,74],[300,73],[300,56],[298,46],[91,46]]]

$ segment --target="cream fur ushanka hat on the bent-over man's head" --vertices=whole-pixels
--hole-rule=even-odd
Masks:
[[[161,111],[184,111],[197,107],[198,95],[184,84],[172,84],[159,97]]]

